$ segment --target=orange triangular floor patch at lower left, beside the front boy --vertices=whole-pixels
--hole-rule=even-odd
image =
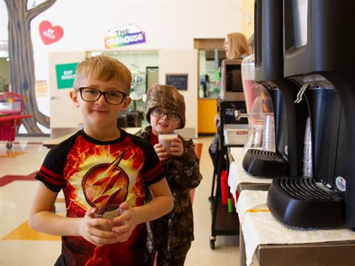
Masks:
[[[45,241],[60,241],[60,236],[58,235],[47,235],[45,233],[39,233],[33,231],[30,226],[28,226],[28,221],[18,226],[10,233],[1,238],[1,240],[45,240]]]

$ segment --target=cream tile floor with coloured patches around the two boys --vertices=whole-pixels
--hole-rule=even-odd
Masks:
[[[36,182],[29,174],[39,169],[48,152],[41,143],[49,138],[16,138],[11,152],[0,142],[0,265],[54,265],[60,254],[60,238],[35,233],[28,228],[28,210]],[[212,137],[194,140],[203,143],[200,170],[203,180],[195,192],[195,241],[187,254],[187,266],[239,265],[237,236],[218,235],[215,249],[209,248],[211,210],[208,197],[212,186],[212,161],[208,146]],[[6,179],[3,177],[8,175]],[[9,177],[10,175],[10,177]],[[18,175],[23,175],[18,179]],[[56,204],[57,212],[65,212],[64,204]]]

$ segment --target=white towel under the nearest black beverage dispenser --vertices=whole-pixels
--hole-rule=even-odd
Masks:
[[[302,244],[355,240],[349,228],[296,228],[280,223],[266,206],[268,192],[243,190],[239,194],[236,211],[246,247],[246,265],[253,262],[253,254],[262,244]],[[286,263],[287,264],[287,263]]]

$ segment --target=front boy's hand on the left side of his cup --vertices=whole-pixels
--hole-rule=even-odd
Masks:
[[[103,228],[113,226],[113,221],[103,218],[95,218],[96,209],[90,208],[79,221],[80,235],[90,243],[98,246],[119,242],[120,236],[113,231],[105,231]]]

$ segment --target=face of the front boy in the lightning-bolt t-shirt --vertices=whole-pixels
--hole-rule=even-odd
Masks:
[[[116,80],[110,80],[107,82],[100,81],[94,78],[84,78],[79,82],[78,88],[89,87],[92,89],[82,91],[82,96],[84,99],[92,99],[93,95],[97,93],[94,89],[100,92],[114,91],[114,93],[106,94],[106,98],[109,101],[116,101],[116,97],[120,98],[122,92],[126,94],[124,88],[122,88],[121,83]],[[117,93],[118,92],[118,93]],[[80,95],[80,92],[70,92],[70,97],[74,102],[75,106],[80,108],[82,112],[82,118],[84,121],[84,127],[87,130],[102,129],[102,131],[107,131],[108,128],[116,129],[117,117],[122,111],[126,111],[127,107],[131,103],[131,98],[124,97],[121,104],[109,104],[105,99],[105,96],[101,94],[99,99],[96,101],[84,101]]]

